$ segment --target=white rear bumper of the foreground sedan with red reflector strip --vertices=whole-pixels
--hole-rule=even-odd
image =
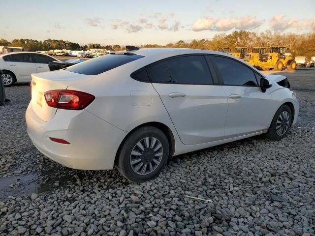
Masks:
[[[81,170],[113,169],[116,152],[127,133],[85,110],[58,110],[54,118],[45,122],[32,111],[31,103],[26,122],[27,132],[40,152],[64,166]],[[70,144],[56,143],[49,137]]]

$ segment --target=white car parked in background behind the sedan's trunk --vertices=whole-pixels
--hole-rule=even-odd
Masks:
[[[48,64],[54,60],[42,53],[16,52],[0,55],[0,70],[3,71],[5,87],[14,83],[31,82],[31,74],[49,71]]]

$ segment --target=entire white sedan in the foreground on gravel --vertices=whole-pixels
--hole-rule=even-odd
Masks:
[[[207,50],[127,46],[33,74],[31,85],[36,148],[74,169],[116,166],[135,182],[155,177],[169,156],[263,133],[282,139],[299,111],[286,77]]]

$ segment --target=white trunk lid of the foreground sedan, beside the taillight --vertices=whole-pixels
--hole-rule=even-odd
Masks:
[[[52,119],[57,108],[47,105],[44,92],[56,89],[66,89],[69,85],[80,80],[91,80],[95,75],[82,75],[66,70],[56,70],[51,72],[32,74],[32,110],[42,120]]]

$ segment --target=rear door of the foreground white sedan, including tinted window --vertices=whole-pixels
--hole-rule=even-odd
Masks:
[[[166,59],[147,72],[185,145],[224,138],[227,98],[204,55]]]

